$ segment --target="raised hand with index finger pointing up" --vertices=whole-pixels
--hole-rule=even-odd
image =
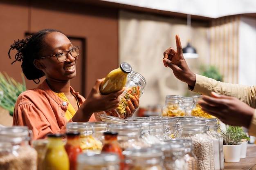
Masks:
[[[196,76],[191,72],[184,59],[179,35],[176,35],[175,38],[177,51],[173,47],[164,51],[164,66],[171,68],[177,79],[194,87]]]

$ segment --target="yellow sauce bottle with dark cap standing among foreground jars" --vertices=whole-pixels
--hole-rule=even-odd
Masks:
[[[62,134],[47,135],[48,146],[43,163],[44,170],[69,170],[70,162],[62,138]]]

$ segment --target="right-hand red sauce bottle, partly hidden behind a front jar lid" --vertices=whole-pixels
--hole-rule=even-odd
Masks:
[[[124,155],[122,154],[122,149],[120,148],[117,140],[118,132],[108,131],[108,132],[104,132],[103,135],[104,135],[104,144],[101,152],[115,152],[117,155],[119,155],[121,160],[120,169],[123,170]]]

